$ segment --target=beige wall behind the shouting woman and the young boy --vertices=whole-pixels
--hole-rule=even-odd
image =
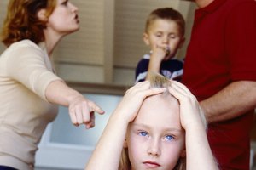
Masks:
[[[6,3],[0,1],[0,21]],[[180,0],[72,0],[79,7],[80,30],[64,37],[55,49],[57,73],[67,81],[130,86],[134,70],[148,47],[143,27],[154,8],[172,6],[187,20],[189,42],[195,6]],[[179,53],[183,58],[186,45]],[[0,45],[3,51],[3,44]]]

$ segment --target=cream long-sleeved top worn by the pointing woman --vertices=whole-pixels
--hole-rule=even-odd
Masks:
[[[60,79],[44,43],[15,42],[0,56],[0,165],[33,168],[38,142],[57,114],[45,89]]]

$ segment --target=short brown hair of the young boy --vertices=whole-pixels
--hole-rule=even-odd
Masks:
[[[148,15],[148,19],[146,21],[146,26],[145,26],[145,32],[148,32],[148,27],[152,24],[154,20],[158,20],[158,19],[175,21],[179,26],[179,33],[181,37],[184,36],[185,20],[183,18],[183,15],[180,14],[174,8],[157,8],[154,11],[152,11]]]

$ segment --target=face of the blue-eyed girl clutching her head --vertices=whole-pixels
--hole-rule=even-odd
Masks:
[[[155,95],[145,99],[125,140],[132,170],[173,169],[185,156],[185,133],[177,100]]]

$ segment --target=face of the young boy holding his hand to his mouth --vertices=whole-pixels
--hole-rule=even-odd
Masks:
[[[172,20],[157,19],[148,26],[148,31],[143,35],[144,42],[154,51],[157,47],[169,48],[171,53],[166,59],[172,59],[181,48],[184,38],[180,35],[179,26]]]

